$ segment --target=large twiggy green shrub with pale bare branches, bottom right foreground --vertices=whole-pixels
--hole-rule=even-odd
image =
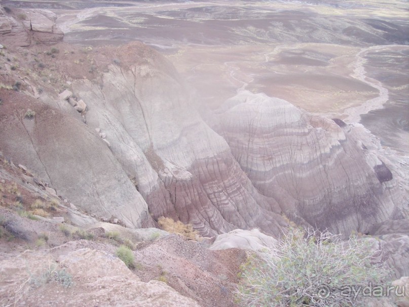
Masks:
[[[245,306],[359,306],[359,297],[341,291],[345,285],[385,283],[389,270],[374,263],[380,258],[368,241],[291,229],[273,249],[242,266],[236,298]]]

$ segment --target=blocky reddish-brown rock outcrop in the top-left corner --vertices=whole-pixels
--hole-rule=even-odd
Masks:
[[[29,46],[32,42],[55,44],[64,33],[56,26],[57,16],[48,10],[8,9],[0,6],[0,38],[8,47]]]

